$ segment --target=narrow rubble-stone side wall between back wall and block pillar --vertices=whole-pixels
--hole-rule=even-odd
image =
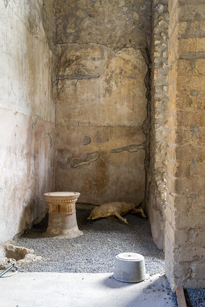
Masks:
[[[152,102],[150,130],[151,182],[147,212],[156,245],[164,248],[167,182],[168,116],[168,0],[153,1],[152,8]]]

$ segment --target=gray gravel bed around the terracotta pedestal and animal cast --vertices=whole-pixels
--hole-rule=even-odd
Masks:
[[[77,224],[84,235],[74,239],[43,238],[48,216],[12,243],[34,249],[43,257],[41,262],[20,266],[24,272],[113,272],[115,255],[133,252],[145,258],[146,272],[150,275],[164,273],[164,252],[152,240],[147,219],[126,216],[129,225],[118,220],[87,220],[90,211],[77,209]]]

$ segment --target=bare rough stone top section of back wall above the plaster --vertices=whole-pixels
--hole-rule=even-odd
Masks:
[[[151,1],[57,2],[57,42],[97,43],[119,50],[150,43]]]

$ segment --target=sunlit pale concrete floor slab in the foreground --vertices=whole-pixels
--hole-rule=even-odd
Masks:
[[[167,279],[119,282],[111,273],[17,273],[0,278],[3,307],[173,307]]]

